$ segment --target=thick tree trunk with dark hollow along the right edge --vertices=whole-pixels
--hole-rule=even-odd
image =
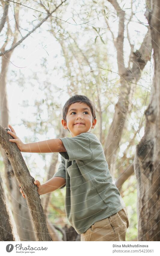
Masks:
[[[137,177],[138,241],[160,241],[160,2],[147,1],[146,18],[151,27],[154,77],[150,104],[145,111],[144,136],[137,144],[134,171]]]

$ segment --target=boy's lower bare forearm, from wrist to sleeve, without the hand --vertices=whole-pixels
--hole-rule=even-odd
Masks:
[[[65,185],[65,179],[62,177],[53,177],[49,179],[47,182],[41,185],[41,190],[38,191],[39,195],[47,194],[52,191],[55,191],[58,188],[61,188]]]

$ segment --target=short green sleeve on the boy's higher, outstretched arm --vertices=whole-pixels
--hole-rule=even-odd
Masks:
[[[90,148],[90,139],[85,133],[81,133],[75,137],[59,138],[66,152],[59,152],[68,161],[73,160],[91,160],[92,150]]]

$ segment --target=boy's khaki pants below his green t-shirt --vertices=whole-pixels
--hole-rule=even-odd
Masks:
[[[80,241],[125,241],[128,226],[127,208],[124,207],[116,214],[96,221],[80,235]]]

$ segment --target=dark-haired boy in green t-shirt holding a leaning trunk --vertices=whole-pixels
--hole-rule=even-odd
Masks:
[[[10,141],[22,152],[61,154],[53,178],[42,185],[34,183],[39,195],[66,186],[66,215],[81,241],[125,241],[127,209],[112,182],[102,145],[91,133],[96,125],[94,104],[84,95],[72,96],[63,107],[62,118],[71,137],[24,144],[9,125],[8,133],[14,138]]]

